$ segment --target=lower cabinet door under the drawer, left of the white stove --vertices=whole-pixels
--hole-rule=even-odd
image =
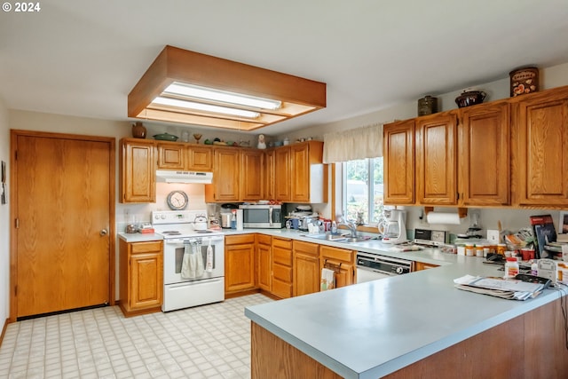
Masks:
[[[162,305],[162,251],[130,256],[130,309]]]

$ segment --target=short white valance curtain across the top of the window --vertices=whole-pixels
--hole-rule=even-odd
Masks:
[[[383,123],[323,136],[323,162],[336,163],[383,156]]]

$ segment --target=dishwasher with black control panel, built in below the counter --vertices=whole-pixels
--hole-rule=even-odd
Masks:
[[[412,272],[412,261],[385,257],[378,254],[357,252],[357,282],[389,278]]]

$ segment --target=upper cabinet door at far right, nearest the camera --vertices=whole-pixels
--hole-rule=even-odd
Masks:
[[[513,125],[517,202],[568,205],[568,89],[519,97]]]

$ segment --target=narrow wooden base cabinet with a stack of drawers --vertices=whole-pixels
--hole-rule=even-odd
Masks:
[[[292,296],[292,240],[272,237],[272,294]]]

